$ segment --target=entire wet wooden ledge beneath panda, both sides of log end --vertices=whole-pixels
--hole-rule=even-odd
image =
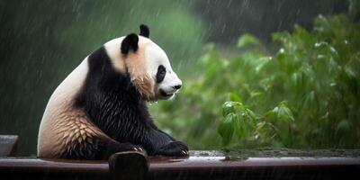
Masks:
[[[266,150],[257,153],[262,152]],[[188,158],[149,157],[145,179],[358,179],[357,153],[358,150],[324,153],[327,157],[255,153],[249,157],[238,151],[191,151]],[[111,179],[110,174],[106,161],[0,158],[0,179]]]

